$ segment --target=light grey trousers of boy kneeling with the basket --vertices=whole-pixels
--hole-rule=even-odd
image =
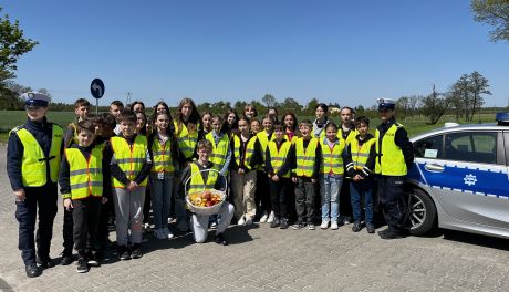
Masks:
[[[220,220],[217,225],[216,234],[225,232],[225,230],[230,225],[231,218],[233,218],[233,205],[225,202],[221,209],[219,209],[218,215],[220,216]],[[209,216],[199,216],[195,213],[191,216],[190,226],[193,229],[193,236],[195,237],[195,241],[198,243],[204,243],[207,241],[208,219]]]

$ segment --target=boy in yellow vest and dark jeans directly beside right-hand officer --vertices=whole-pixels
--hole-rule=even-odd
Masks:
[[[361,200],[364,199],[364,223],[368,233],[374,233],[373,226],[373,175],[375,168],[375,138],[367,133],[370,118],[360,116],[356,118],[357,135],[346,146],[344,163],[346,174],[351,179],[350,195],[352,200],[353,220],[352,231],[359,232],[362,229]]]

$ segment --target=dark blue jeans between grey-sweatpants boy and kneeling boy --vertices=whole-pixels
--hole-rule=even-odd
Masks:
[[[157,179],[157,174],[150,174],[152,210],[156,229],[168,227],[173,181],[173,174],[165,174],[164,179]]]

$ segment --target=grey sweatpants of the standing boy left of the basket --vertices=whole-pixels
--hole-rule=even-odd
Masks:
[[[113,201],[115,204],[116,244],[127,246],[129,241],[141,243],[145,187],[138,187],[133,191],[114,188]]]

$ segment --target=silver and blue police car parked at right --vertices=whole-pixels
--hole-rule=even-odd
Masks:
[[[509,113],[497,124],[445,127],[412,138],[411,233],[435,227],[509,238]]]

